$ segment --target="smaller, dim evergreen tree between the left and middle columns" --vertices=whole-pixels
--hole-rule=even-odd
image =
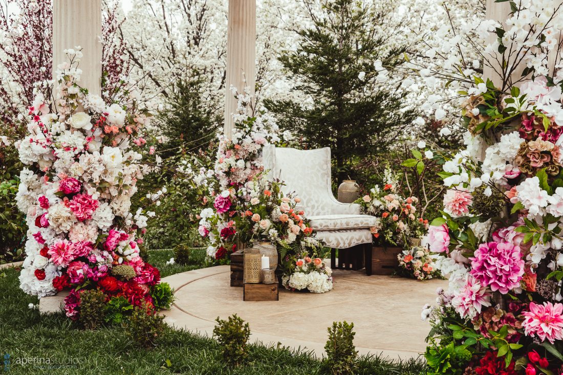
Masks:
[[[215,139],[222,118],[216,106],[203,99],[203,78],[196,76],[176,82],[169,93],[166,109],[159,113],[159,131],[166,137],[160,155],[205,149]]]

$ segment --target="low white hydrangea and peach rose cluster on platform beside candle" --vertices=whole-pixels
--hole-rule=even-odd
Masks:
[[[333,288],[332,270],[320,257],[311,258],[307,252],[288,256],[282,284],[292,291],[325,293]]]

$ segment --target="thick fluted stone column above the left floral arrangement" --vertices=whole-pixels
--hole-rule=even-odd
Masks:
[[[101,32],[101,0],[53,0],[53,73],[57,65],[68,61],[64,50],[81,46],[80,85],[101,95]]]

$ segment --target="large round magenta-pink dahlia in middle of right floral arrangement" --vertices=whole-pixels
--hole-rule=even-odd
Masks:
[[[520,287],[525,263],[520,247],[507,242],[483,243],[473,255],[470,272],[482,285],[502,294]]]

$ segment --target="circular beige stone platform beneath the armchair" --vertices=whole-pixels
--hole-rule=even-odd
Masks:
[[[332,322],[354,323],[360,354],[416,358],[425,351],[430,330],[422,306],[436,300],[445,280],[419,282],[395,276],[366,276],[363,271],[334,270],[334,289],[324,294],[289,292],[279,301],[244,302],[243,288],[230,287],[229,266],[209,267],[164,278],[176,289],[166,322],[212,335],[217,316],[238,314],[250,324],[253,341],[301,347],[324,353]]]

